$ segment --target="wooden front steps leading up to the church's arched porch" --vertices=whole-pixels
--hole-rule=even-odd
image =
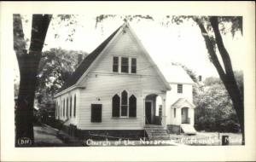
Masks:
[[[170,140],[167,130],[162,125],[146,124],[144,129],[148,135],[148,140]]]

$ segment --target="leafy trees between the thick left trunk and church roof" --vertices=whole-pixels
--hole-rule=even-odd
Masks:
[[[39,101],[51,100],[55,92],[78,67],[79,55],[85,57],[88,54],[83,51],[65,49],[49,49],[43,53],[37,76]]]

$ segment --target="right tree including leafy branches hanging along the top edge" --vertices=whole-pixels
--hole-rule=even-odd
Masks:
[[[102,16],[100,17],[100,21],[106,19],[111,16]],[[133,20],[136,19],[146,19],[146,20],[154,20],[152,16],[131,16],[126,15],[125,20]],[[224,83],[225,89],[228,91],[230,95],[230,99],[233,102],[233,107],[236,110],[236,115],[239,120],[241,126],[241,134],[242,134],[242,145],[245,142],[244,136],[244,104],[243,104],[243,96],[239,87],[236,83],[236,78],[234,75],[230,54],[227,49],[225,49],[223,38],[221,32],[226,34],[227,31],[231,32],[234,36],[236,32],[241,32],[242,34],[242,17],[241,16],[166,16],[166,21],[162,22],[163,26],[168,26],[168,24],[176,23],[177,25],[183,23],[183,20],[194,20],[197,26],[199,26],[201,30],[201,36],[204,38],[207,51],[209,54],[209,58],[212,61],[212,64],[217,69],[218,75]],[[99,21],[99,22],[100,22]],[[227,30],[224,26],[226,22],[231,23],[230,31]],[[219,29],[219,26],[222,26]],[[212,34],[212,35],[211,35]],[[221,59],[218,58],[217,51],[221,55]],[[221,62],[224,64],[224,67],[221,66]]]

